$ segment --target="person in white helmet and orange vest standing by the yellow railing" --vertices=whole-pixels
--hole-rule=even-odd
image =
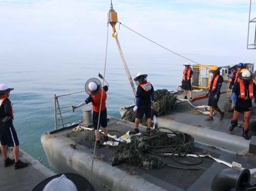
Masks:
[[[185,69],[183,71],[183,77],[182,77],[182,85],[181,88],[184,89],[184,99],[187,99],[187,90],[189,92],[190,100],[192,99],[192,92],[191,92],[191,84],[194,84],[194,73],[193,70],[191,69],[191,65],[186,62],[183,66],[185,66]],[[192,78],[192,82],[191,82]]]

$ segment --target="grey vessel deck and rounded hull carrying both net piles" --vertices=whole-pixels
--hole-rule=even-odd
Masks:
[[[225,85],[223,89],[226,88]],[[193,97],[201,96],[205,91],[193,92]],[[184,94],[178,95],[178,99],[184,98]],[[223,109],[226,103],[225,94],[221,95],[219,107]],[[208,99],[197,100],[193,105],[207,105]],[[191,127],[199,127],[201,129],[212,130],[222,134],[230,135],[229,126],[232,117],[232,112],[226,112],[224,119],[219,120],[218,113],[214,115],[213,122],[204,121],[204,118],[209,115],[195,114],[192,111],[193,107],[187,102],[177,104],[177,108],[170,111],[167,116],[162,116],[164,120],[178,122]],[[239,119],[239,124],[243,123],[243,114]],[[158,117],[159,119],[159,117]],[[157,119],[157,120],[158,120]],[[159,124],[158,124],[159,125]],[[92,156],[94,151],[94,140],[92,139],[94,131],[74,132],[72,129],[75,126],[62,128],[48,134],[42,135],[41,142],[46,152],[49,164],[59,173],[77,173],[88,180],[91,176],[91,183],[95,189],[99,190],[211,190],[211,182],[214,177],[222,170],[229,167],[216,162],[215,160],[204,157],[202,163],[193,167],[198,170],[181,170],[164,166],[162,169],[143,170],[139,166],[127,166],[119,164],[112,166],[112,158],[117,151],[117,148],[102,146],[95,151],[94,166],[91,174]],[[126,122],[115,117],[111,117],[108,121],[108,129],[110,135],[122,134],[134,129],[134,123]],[[144,132],[146,127],[140,126],[140,132]],[[170,129],[172,129],[170,127]],[[250,132],[251,137],[254,132]],[[242,128],[236,127],[231,135],[239,141],[247,141],[242,135]],[[217,137],[216,137],[217,138]],[[243,140],[244,139],[244,140]],[[101,144],[103,143],[103,135],[101,134]],[[256,168],[255,155],[244,151],[243,154],[238,154],[235,151],[230,151],[224,147],[212,147],[210,144],[205,144],[201,140],[195,138],[195,152],[200,155],[210,155],[227,163],[232,164],[233,161],[242,164],[242,168]],[[239,142],[238,141],[238,142]],[[234,143],[235,144],[235,143]],[[151,155],[145,153],[144,155]],[[174,166],[186,165],[180,164],[173,157],[161,157],[165,164]],[[199,159],[193,157],[178,157],[179,160],[195,163]],[[189,166],[191,167],[191,166]],[[256,182],[256,175],[250,177],[250,184]],[[199,189],[200,187],[200,189]]]

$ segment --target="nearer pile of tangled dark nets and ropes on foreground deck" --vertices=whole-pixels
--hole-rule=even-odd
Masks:
[[[143,153],[147,152],[164,157],[173,156],[177,162],[187,165],[196,165],[202,162],[202,159],[200,158],[200,162],[197,162],[196,164],[184,163],[178,161],[174,157],[174,155],[186,156],[188,153],[193,153],[195,144],[193,136],[169,129],[167,130],[172,132],[163,132],[159,129],[167,128],[151,130],[150,134],[148,134],[148,131],[141,133],[133,138],[130,143],[125,145],[120,142],[120,145],[122,146],[119,146],[119,149],[114,155],[112,166],[122,163],[124,165],[141,166],[145,170],[152,170],[163,168],[164,165],[168,165],[178,169],[198,170],[197,168],[184,168],[165,164],[156,156],[143,155]],[[166,153],[169,155],[166,155]]]

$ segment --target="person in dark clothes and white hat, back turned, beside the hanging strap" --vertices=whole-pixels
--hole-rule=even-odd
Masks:
[[[137,77],[134,78],[134,81],[138,87],[136,92],[136,106],[133,108],[134,112],[136,112],[135,129],[130,131],[130,134],[139,133],[139,123],[144,113],[147,118],[146,131],[150,131],[152,124],[151,105],[154,104],[155,93],[153,85],[150,82],[147,82],[146,77],[146,74],[138,73]]]

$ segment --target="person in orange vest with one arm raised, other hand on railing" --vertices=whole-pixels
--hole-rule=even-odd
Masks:
[[[99,78],[103,79],[102,75],[98,75]],[[93,126],[94,126],[94,132],[95,137],[97,137],[96,141],[96,147],[100,148],[100,135],[98,131],[98,119],[100,114],[100,120],[99,120],[99,127],[103,127],[104,132],[104,139],[103,141],[106,142],[109,140],[108,137],[108,124],[107,124],[107,118],[106,118],[106,91],[109,89],[109,83],[104,79],[103,81],[104,87],[101,88],[101,83],[98,79],[92,78],[87,81],[86,83],[86,92],[89,94],[89,97],[82,103],[72,106],[73,112],[76,108],[79,108],[81,106],[84,106],[91,102],[93,107]],[[101,101],[101,95],[102,95],[102,101]],[[101,109],[100,109],[100,102],[101,102]]]

